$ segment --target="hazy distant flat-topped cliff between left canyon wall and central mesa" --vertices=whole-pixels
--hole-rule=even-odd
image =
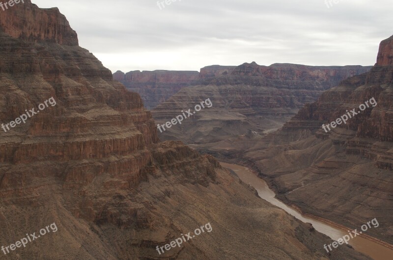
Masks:
[[[113,79],[128,90],[139,93],[144,106],[153,109],[181,88],[190,86],[199,77],[198,71],[122,71],[113,73]]]

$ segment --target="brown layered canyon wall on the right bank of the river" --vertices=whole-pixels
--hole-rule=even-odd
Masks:
[[[200,148],[253,166],[282,200],[306,213],[353,228],[377,218],[382,228],[367,234],[392,244],[392,39],[382,41],[369,72],[324,92],[281,130]],[[348,112],[346,124],[322,129]]]

